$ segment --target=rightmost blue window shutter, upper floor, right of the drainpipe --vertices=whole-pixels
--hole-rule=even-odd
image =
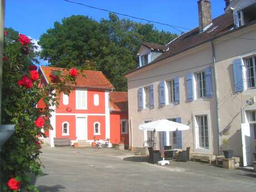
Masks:
[[[243,92],[243,70],[242,70],[242,58],[233,61],[234,70],[234,82],[235,82],[235,92]]]

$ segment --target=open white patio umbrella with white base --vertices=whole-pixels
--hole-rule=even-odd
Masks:
[[[139,125],[139,129],[145,130],[145,131],[154,131],[155,130],[157,132],[159,132],[159,131],[176,131],[176,130],[184,131],[184,130],[188,130],[189,126],[180,124],[178,122],[169,121],[167,119],[161,119],[161,120],[157,120],[157,121],[147,122],[146,124],[141,124],[141,125]],[[158,164],[160,164],[160,165],[169,164],[169,161],[166,161],[163,158],[163,160],[159,161]]]

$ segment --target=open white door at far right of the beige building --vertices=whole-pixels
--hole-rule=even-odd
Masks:
[[[252,164],[250,152],[250,124],[241,124],[244,166]]]

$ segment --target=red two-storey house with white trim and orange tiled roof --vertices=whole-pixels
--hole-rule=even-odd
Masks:
[[[45,80],[43,83],[51,83],[50,73],[53,70],[63,70],[63,68],[40,67],[40,73]],[[85,70],[83,75],[85,77],[77,76],[77,85],[73,87],[69,96],[61,93],[60,104],[51,114],[53,130],[45,132],[47,136],[45,142],[51,146],[54,146],[53,138],[63,137],[69,137],[72,144],[78,140],[91,143],[94,139],[110,139],[112,143],[120,142],[122,136],[120,123],[127,119],[128,114],[126,110],[126,115],[122,115],[119,120],[112,118],[109,97],[114,86],[101,71]],[[127,93],[125,98],[127,105]],[[44,108],[45,104],[40,101],[37,107]],[[113,110],[116,109],[113,108]],[[118,134],[119,137],[117,137]],[[126,134],[128,135],[128,127],[124,136]]]

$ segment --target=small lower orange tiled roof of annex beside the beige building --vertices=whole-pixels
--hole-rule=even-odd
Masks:
[[[114,91],[110,93],[111,111],[128,111],[127,92]]]

